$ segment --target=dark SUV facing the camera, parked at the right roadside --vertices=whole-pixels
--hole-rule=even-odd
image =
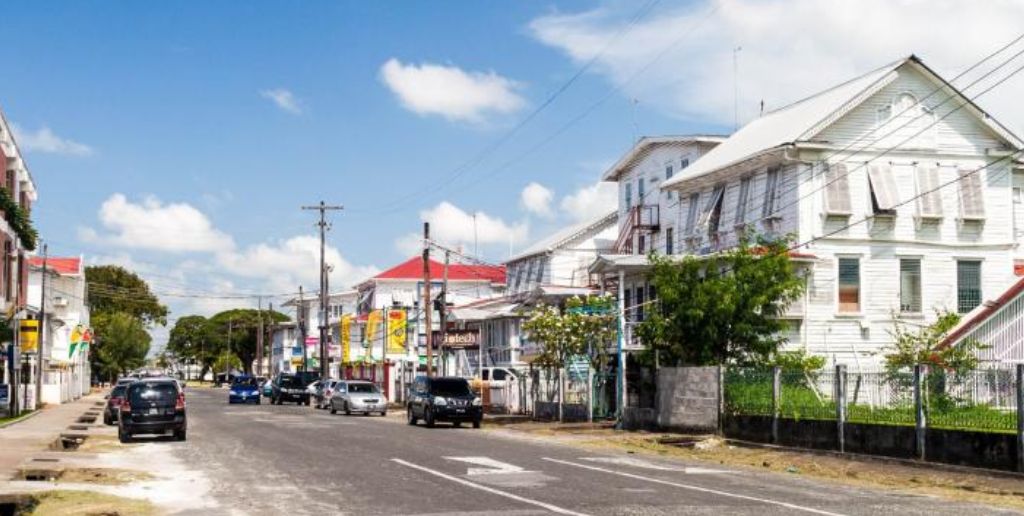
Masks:
[[[468,422],[480,428],[483,406],[465,378],[418,377],[410,388],[407,414],[410,425],[422,419],[427,427],[447,421],[455,426]]]

